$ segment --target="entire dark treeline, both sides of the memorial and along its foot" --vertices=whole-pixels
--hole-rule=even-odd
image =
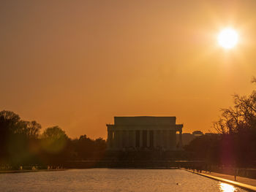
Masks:
[[[256,82],[254,79],[253,82]],[[218,134],[192,140],[182,153],[162,151],[106,153],[104,139],[86,135],[70,139],[59,126],[46,128],[36,121],[21,120],[10,111],[0,112],[0,166],[60,165],[83,160],[201,160],[209,165],[246,167],[256,164],[256,91],[233,96],[233,107],[222,110],[214,122]],[[145,153],[145,154],[144,154]],[[1,169],[1,167],[0,167]]]

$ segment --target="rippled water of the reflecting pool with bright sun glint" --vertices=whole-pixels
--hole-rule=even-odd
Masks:
[[[70,169],[0,174],[0,191],[244,191],[180,169]]]

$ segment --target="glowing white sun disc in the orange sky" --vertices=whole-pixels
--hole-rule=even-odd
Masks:
[[[231,49],[238,43],[238,33],[233,28],[224,28],[219,32],[218,42],[225,49]]]

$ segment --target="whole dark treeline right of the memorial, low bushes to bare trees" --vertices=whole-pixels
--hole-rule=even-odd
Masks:
[[[256,165],[256,91],[249,96],[234,95],[233,100],[233,107],[223,109],[214,122],[219,134],[198,137],[184,147],[190,158],[218,166]]]

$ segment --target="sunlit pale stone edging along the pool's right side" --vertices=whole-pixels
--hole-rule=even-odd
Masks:
[[[256,187],[255,186],[252,186],[252,185],[248,185],[248,184],[244,184],[244,183],[240,183],[240,182],[237,182],[237,181],[233,181],[233,180],[227,180],[227,179],[224,179],[222,177],[216,177],[216,176],[212,176],[212,175],[209,175],[209,174],[203,174],[203,173],[197,173],[197,172],[192,172],[188,169],[181,169],[181,170],[184,170],[184,171],[187,171],[187,172],[191,172],[191,173],[194,173],[194,174],[199,174],[203,177],[208,177],[208,178],[211,178],[213,180],[219,180],[219,181],[222,181],[224,183],[228,183],[228,184],[231,184],[231,185],[236,185],[240,188],[244,188],[246,190],[249,190],[249,191],[256,191]]]

